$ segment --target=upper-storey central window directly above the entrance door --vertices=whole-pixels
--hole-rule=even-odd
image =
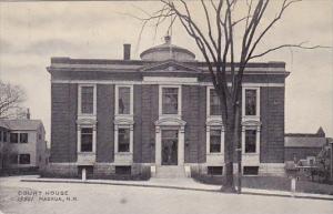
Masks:
[[[176,88],[162,88],[162,114],[178,114]]]

